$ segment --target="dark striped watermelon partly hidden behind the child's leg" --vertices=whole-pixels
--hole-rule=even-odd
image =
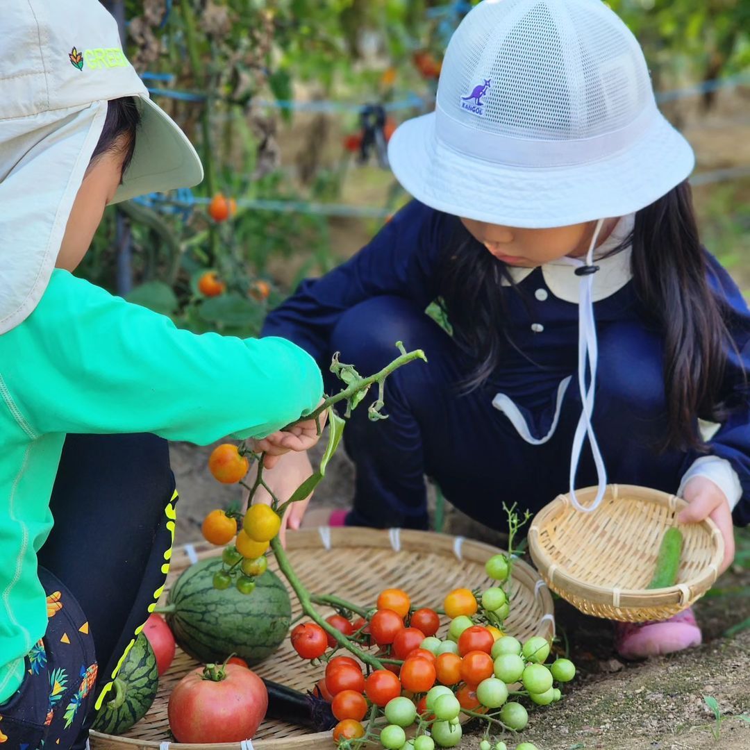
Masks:
[[[127,652],[92,729],[104,734],[127,732],[151,708],[158,687],[154,649],[148,638],[140,633]]]

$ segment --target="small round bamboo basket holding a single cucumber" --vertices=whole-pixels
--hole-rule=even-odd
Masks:
[[[577,490],[578,502],[588,505],[596,489]],[[590,513],[559,495],[534,517],[529,550],[547,586],[586,614],[622,622],[668,619],[711,587],[724,557],[712,520],[677,522],[686,506],[674,495],[630,484],[610,484]],[[646,589],[670,526],[684,540],[677,583]]]

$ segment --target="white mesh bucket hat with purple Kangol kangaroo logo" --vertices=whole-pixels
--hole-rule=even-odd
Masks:
[[[529,228],[630,214],[694,166],[601,0],[479,3],[449,43],[435,112],[398,127],[389,160],[432,208]]]

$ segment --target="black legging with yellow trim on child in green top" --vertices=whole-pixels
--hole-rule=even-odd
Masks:
[[[55,525],[38,557],[89,618],[98,690],[110,682],[164,583],[164,552],[174,529],[166,510],[174,505],[174,490],[169,449],[160,437],[65,440],[50,502]]]

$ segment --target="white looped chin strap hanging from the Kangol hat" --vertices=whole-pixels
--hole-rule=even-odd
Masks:
[[[604,469],[604,459],[601,458],[594,428],[591,424],[596,387],[596,362],[598,359],[593,305],[594,273],[598,271],[598,268],[594,266],[593,260],[596,240],[601,233],[601,226],[603,224],[604,219],[599,219],[596,222],[589,251],[586,253],[586,263],[577,258],[566,257],[562,259],[566,263],[570,263],[571,266],[577,266],[576,274],[580,275],[580,299],[578,302],[578,389],[583,408],[581,409],[580,419],[578,419],[578,425],[573,437],[573,449],[570,460],[570,499],[574,508],[586,513],[598,508],[601,500],[604,498],[604,491],[607,489],[607,471]],[[586,362],[589,365],[588,386],[586,386]],[[583,450],[583,440],[586,436],[589,438],[589,444],[591,445],[598,480],[596,497],[594,502],[588,506],[581,505],[575,494],[575,475],[578,463],[580,463],[580,453]]]

